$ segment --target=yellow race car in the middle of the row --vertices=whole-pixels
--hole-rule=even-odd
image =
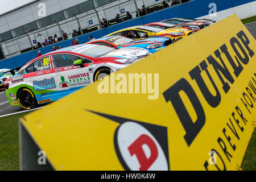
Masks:
[[[177,40],[180,40],[185,36],[188,36],[191,34],[193,34],[193,31],[188,30],[187,28],[164,29],[164,27],[160,27],[160,26],[154,27],[154,26],[144,25],[144,26],[134,26],[134,27],[125,28],[125,29],[113,32],[112,34],[109,34],[106,36],[121,35],[134,40],[147,38],[148,36],[166,36],[168,38],[171,38],[172,42],[174,43]]]

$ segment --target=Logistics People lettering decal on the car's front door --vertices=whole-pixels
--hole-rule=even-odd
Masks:
[[[68,76],[70,86],[82,86],[90,84],[89,73],[81,73]],[[62,80],[61,80],[62,81]]]

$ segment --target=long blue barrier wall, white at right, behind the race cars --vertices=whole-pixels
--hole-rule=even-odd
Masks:
[[[216,10],[217,13],[212,14],[212,10]],[[80,44],[88,42],[88,36],[92,35],[93,38],[101,38],[104,35],[111,32],[121,30],[122,28],[136,26],[140,24],[146,24],[151,22],[158,22],[160,20],[184,17],[184,18],[210,18],[214,20],[221,20],[234,13],[239,18],[248,18],[256,15],[256,1],[254,0],[193,0],[182,5],[177,5],[168,9],[164,9],[155,13],[148,14],[139,18],[131,19],[123,23],[115,24],[111,27],[101,29],[98,31],[90,32],[89,34],[81,35],[77,37]],[[210,13],[210,15],[209,15]],[[52,50],[52,46],[68,47],[71,46],[73,39],[65,40],[64,42],[52,44],[51,46],[36,49],[35,51],[23,53],[18,56],[11,57],[9,59],[0,61],[0,69],[20,67],[26,64],[28,61],[35,59],[38,50],[42,52],[42,55]]]

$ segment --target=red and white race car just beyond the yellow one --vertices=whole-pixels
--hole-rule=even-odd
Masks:
[[[188,22],[188,23],[180,23],[180,24],[174,24],[174,23],[168,23],[168,22],[154,22],[154,23],[148,23],[146,26],[151,26],[151,27],[164,27],[165,29],[167,28],[173,28],[173,27],[178,27],[178,28],[188,28],[191,31],[199,31],[202,30],[205,25],[202,22]]]

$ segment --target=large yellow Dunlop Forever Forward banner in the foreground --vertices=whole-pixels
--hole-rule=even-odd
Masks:
[[[236,15],[21,120],[57,170],[237,170],[256,41]]]

